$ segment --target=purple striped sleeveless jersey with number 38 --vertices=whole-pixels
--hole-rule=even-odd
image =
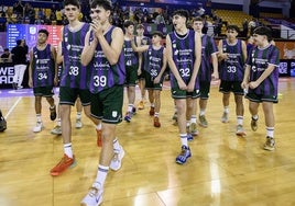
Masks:
[[[64,69],[61,77],[61,87],[88,89],[89,72],[80,62],[80,55],[85,44],[85,35],[89,24],[84,23],[81,28],[72,32],[68,25],[64,27],[62,50]]]

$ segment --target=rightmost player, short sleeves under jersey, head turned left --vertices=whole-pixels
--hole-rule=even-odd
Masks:
[[[278,102],[280,50],[271,43],[272,31],[269,27],[256,27],[253,31],[253,38],[256,46],[249,53],[241,85],[248,90],[245,98],[250,101],[252,130],[258,129],[258,110],[262,104],[266,126],[266,141],[263,148],[273,151],[275,149],[273,103]]]

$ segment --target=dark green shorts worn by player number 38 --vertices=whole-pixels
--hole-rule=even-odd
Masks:
[[[80,98],[81,105],[88,106],[90,105],[90,91],[80,90],[79,88],[67,88],[61,87],[59,88],[59,104],[68,104],[74,106],[77,98]]]

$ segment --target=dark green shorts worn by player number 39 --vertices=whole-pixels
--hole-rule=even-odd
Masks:
[[[122,122],[123,92],[122,85],[91,94],[91,116],[103,123],[118,124]]]

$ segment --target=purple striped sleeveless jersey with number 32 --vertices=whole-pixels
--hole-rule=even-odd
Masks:
[[[188,84],[195,62],[195,32],[189,30],[184,37],[177,35],[174,31],[168,34],[172,44],[172,58],[173,61],[186,84]],[[171,87],[177,87],[177,80],[171,72]],[[198,83],[195,84],[195,89],[199,89]]]

